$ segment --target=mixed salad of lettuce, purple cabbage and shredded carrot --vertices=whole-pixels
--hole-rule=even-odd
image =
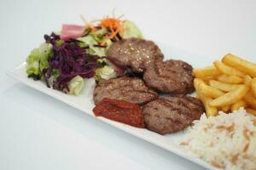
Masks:
[[[44,35],[45,42],[26,59],[26,73],[67,94],[78,95],[84,79],[106,81],[123,74],[106,58],[108,47],[128,37],[143,38],[142,32],[122,16],[104,17],[84,26],[62,25],[60,33]]]

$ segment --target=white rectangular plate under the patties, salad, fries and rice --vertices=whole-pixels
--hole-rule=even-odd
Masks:
[[[162,52],[165,54],[165,59],[182,59],[188,62],[190,65],[193,65],[194,67],[204,67],[212,63],[210,59],[206,59],[195,54],[189,54],[183,50],[166,46],[166,44],[159,44],[159,45]],[[62,102],[66,103],[67,105],[71,105],[74,108],[79,109],[80,111],[83,111],[84,113],[90,116],[94,116],[92,113],[92,109],[94,107],[94,103],[92,100],[93,88],[85,87],[84,95],[80,95],[80,96],[68,95],[68,94],[59,92],[57,90],[54,90],[52,88],[47,88],[43,82],[40,82],[40,81],[35,82],[32,79],[27,78],[26,63],[23,63],[22,65],[18,66],[13,71],[9,71],[8,74],[9,76],[15,77],[20,82],[23,82],[24,84],[26,84],[31,88],[35,88],[38,91],[43,92],[44,94],[48,94],[49,96],[52,96],[55,99],[59,99]],[[102,120],[103,122],[107,122],[113,125],[113,127],[117,127],[127,133],[131,133],[137,136],[138,138],[144,139],[152,144],[156,144],[161,148],[170,150],[172,153],[175,153],[178,156],[182,156],[183,158],[188,159],[189,161],[193,161],[201,165],[202,167],[207,167],[207,169],[216,169],[215,167],[212,167],[211,165],[209,165],[207,162],[201,161],[200,159],[195,158],[195,156],[191,156],[188,152],[183,150],[183,148],[181,148],[177,144],[177,142],[175,142],[178,139],[183,137],[183,134],[184,134],[183,132],[172,133],[172,134],[167,134],[163,136],[158,133],[148,131],[147,129],[131,127],[119,122],[113,122],[103,117],[96,117],[96,118]]]

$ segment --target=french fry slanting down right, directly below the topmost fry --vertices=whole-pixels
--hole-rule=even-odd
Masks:
[[[237,70],[236,68],[230,67],[229,65],[225,65],[224,63],[216,60],[213,62],[214,66],[221,71],[222,73],[229,76],[237,76],[237,77],[245,77],[246,74],[242,71]]]

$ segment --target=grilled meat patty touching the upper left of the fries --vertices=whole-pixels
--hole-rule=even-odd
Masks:
[[[160,92],[188,94],[193,92],[192,66],[182,60],[170,59],[156,62],[144,72],[148,87]]]

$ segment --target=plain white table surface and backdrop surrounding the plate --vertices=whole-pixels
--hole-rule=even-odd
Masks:
[[[212,60],[233,53],[256,62],[253,0],[1,0],[0,169],[204,169],[6,76],[45,33],[113,8],[148,39]]]

